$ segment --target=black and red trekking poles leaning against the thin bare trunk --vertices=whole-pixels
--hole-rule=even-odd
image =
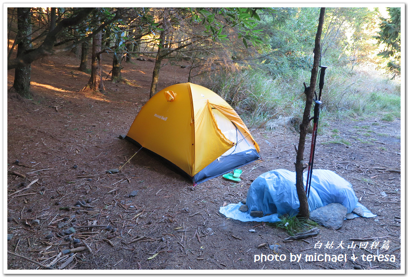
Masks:
[[[319,76],[319,98],[316,95],[314,115],[310,119],[310,120],[313,119],[313,132],[312,132],[312,143],[310,146],[309,165],[308,165],[307,178],[306,178],[307,197],[309,197],[310,185],[312,183],[313,161],[315,159],[316,136],[318,134],[318,123],[319,123],[320,105],[321,105],[321,91],[323,90],[324,74],[325,74],[325,70],[327,66],[320,66],[320,67],[321,67],[321,70],[320,70],[320,76]]]

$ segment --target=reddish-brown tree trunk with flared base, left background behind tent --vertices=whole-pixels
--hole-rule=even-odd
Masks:
[[[98,32],[92,38],[92,58],[91,58],[91,71],[88,84],[85,86],[85,89],[92,91],[97,91],[102,88],[102,61],[101,61],[101,45],[102,45],[102,33]]]

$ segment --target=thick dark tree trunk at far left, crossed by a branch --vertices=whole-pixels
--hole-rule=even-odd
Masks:
[[[17,37],[20,40],[17,46],[17,58],[31,49],[31,8],[17,8]],[[31,64],[16,67],[13,89],[25,98],[32,96],[30,92]]]

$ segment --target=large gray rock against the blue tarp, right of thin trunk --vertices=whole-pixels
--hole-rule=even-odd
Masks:
[[[343,225],[346,214],[347,208],[342,204],[331,203],[312,211],[310,219],[324,227],[339,229]]]

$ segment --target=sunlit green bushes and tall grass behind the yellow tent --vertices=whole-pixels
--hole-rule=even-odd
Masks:
[[[274,16],[265,17],[260,25],[270,36],[258,52],[264,55],[257,66],[253,61],[236,63],[200,82],[226,99],[251,128],[297,129],[305,101],[303,82],[310,82],[316,10],[278,9],[286,15],[280,24]],[[400,76],[378,55],[384,46],[374,38],[381,19],[378,9],[327,9],[321,65],[328,69],[321,118],[401,117]]]

